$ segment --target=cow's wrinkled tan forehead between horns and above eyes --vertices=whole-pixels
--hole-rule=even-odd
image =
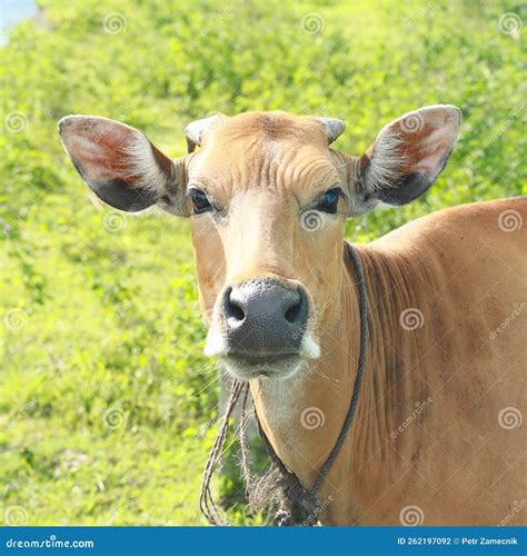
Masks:
[[[338,179],[328,137],[314,118],[285,112],[221,117],[203,139],[189,169],[189,181],[225,186],[288,187]]]

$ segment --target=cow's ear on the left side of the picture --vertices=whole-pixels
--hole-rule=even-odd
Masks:
[[[182,159],[172,161],[137,129],[96,116],[67,116],[59,133],[82,179],[111,207],[137,212],[159,205],[188,216]]]

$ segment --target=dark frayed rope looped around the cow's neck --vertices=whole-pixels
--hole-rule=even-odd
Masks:
[[[279,526],[290,526],[290,525],[312,525],[318,520],[318,517],[322,510],[322,505],[317,498],[317,493],[320,490],[320,487],[322,486],[322,483],[329,475],[329,471],[331,470],[331,467],[337,459],[345,441],[348,436],[349,429],[351,427],[351,423],[354,420],[356,410],[357,410],[357,405],[359,401],[359,396],[360,396],[360,389],[362,386],[362,380],[364,380],[364,375],[365,375],[365,367],[366,367],[366,341],[368,337],[368,304],[367,304],[367,296],[366,296],[366,284],[365,284],[365,276],[364,276],[364,270],[362,270],[362,264],[360,261],[360,258],[357,254],[357,251],[354,249],[354,247],[346,242],[346,250],[348,252],[349,258],[354,262],[355,266],[355,272],[357,276],[357,288],[358,288],[358,298],[359,298],[359,328],[360,328],[360,340],[359,340],[359,357],[358,357],[358,363],[357,363],[357,374],[355,378],[355,386],[354,386],[354,394],[351,396],[351,401],[349,405],[348,413],[346,414],[346,418],[342,423],[342,427],[340,429],[340,433],[337,437],[337,441],[335,443],[334,448],[331,449],[328,458],[326,459],[325,464],[320,468],[320,471],[315,479],[315,483],[312,484],[311,488],[306,489],[304,488],[302,484],[300,483],[300,479],[297,477],[297,475],[285,466],[284,461],[280,459],[278,454],[275,451],[275,448],[271,446],[269,439],[267,438],[266,434],[264,433],[264,429],[261,427],[260,420],[258,419],[258,415],[256,415],[256,419],[258,423],[258,431],[260,435],[260,438],[262,440],[262,444],[265,445],[269,457],[271,458],[272,463],[276,465],[278,470],[281,474],[282,477],[282,483],[284,483],[284,488],[287,498],[290,502],[290,506],[287,508],[280,508],[276,516],[275,520],[276,524]],[[226,413],[223,415],[223,419],[220,426],[220,429],[218,431],[218,435],[215,439],[215,444],[212,445],[212,449],[209,455],[209,459],[207,461],[205,473],[203,473],[203,480],[201,485],[201,495],[200,495],[200,508],[203,515],[207,517],[209,523],[212,525],[226,525],[225,519],[221,517],[221,514],[218,509],[217,504],[213,500],[213,497],[210,492],[210,481],[212,478],[212,474],[215,471],[215,468],[217,467],[220,458],[221,458],[221,451],[222,447],[225,444],[225,439],[227,436],[227,428],[229,424],[229,417],[232,414],[232,409],[241,394],[241,391],[245,390],[245,398],[243,398],[243,407],[242,407],[242,418],[241,418],[241,426],[240,426],[240,440],[241,440],[241,456],[242,456],[242,471],[243,471],[243,479],[246,483],[246,488],[248,487],[248,477],[249,477],[249,470],[248,470],[248,459],[247,459],[247,454],[248,454],[248,448],[247,444],[245,441],[245,434],[243,434],[243,416],[245,416],[245,407],[246,407],[246,401],[247,401],[247,395],[248,395],[248,389],[249,385],[248,383],[241,381],[241,380],[233,380],[232,381],[232,388],[229,397],[229,401],[227,404]]]

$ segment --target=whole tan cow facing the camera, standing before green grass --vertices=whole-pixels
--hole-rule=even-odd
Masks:
[[[460,123],[453,106],[424,107],[350,156],[330,147],[338,119],[213,115],[186,128],[189,152],[176,159],[101,117],[68,116],[59,130],[102,201],[191,219],[206,354],[249,383],[275,453],[310,488],[357,373],[345,222],[425,193]],[[318,493],[322,525],[527,523],[526,212],[527,198],[475,202],[354,246],[366,365]]]

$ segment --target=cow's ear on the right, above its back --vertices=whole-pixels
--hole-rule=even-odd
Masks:
[[[359,159],[354,215],[378,202],[406,205],[422,195],[445,168],[460,123],[458,108],[435,105],[385,126]]]

